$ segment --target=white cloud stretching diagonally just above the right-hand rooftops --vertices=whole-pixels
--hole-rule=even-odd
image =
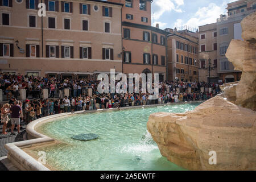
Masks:
[[[174,27],[181,27],[184,25],[198,27],[204,24],[214,23],[216,22],[216,19],[220,17],[220,14],[226,13],[226,4],[232,1],[233,0],[224,1],[220,6],[217,6],[215,3],[210,3],[207,7],[199,7],[196,13],[187,21],[177,19],[174,23]]]

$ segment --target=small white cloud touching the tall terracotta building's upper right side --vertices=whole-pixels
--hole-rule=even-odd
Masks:
[[[182,13],[179,6],[184,5],[183,0],[157,0],[153,2],[154,5],[158,6],[158,10],[154,12],[154,18],[158,20],[165,12],[171,12],[172,10]]]

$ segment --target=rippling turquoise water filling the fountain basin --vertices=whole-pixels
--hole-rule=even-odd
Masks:
[[[60,144],[38,148],[47,163],[62,170],[184,170],[164,158],[147,131],[151,113],[184,113],[200,103],[166,105],[76,114],[40,126],[41,133]],[[100,138],[80,141],[71,137],[94,133]]]

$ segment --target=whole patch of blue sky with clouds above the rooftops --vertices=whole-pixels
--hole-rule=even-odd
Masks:
[[[216,22],[226,13],[227,3],[236,0],[154,0],[151,4],[152,26],[159,28],[189,26],[198,28]],[[154,22],[154,23],[153,23]]]

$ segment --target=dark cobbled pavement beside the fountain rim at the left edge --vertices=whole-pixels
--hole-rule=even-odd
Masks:
[[[1,123],[0,125],[0,158],[7,155],[7,150],[5,149],[6,143],[13,143],[13,142],[19,142],[23,140],[23,135],[26,133],[26,123],[21,122],[20,134],[18,134],[18,130],[14,128],[14,135],[11,135],[11,131],[9,132],[9,129],[7,129],[6,135],[2,134],[2,128],[3,125]],[[0,161],[0,171],[7,171],[7,168],[1,163]]]

